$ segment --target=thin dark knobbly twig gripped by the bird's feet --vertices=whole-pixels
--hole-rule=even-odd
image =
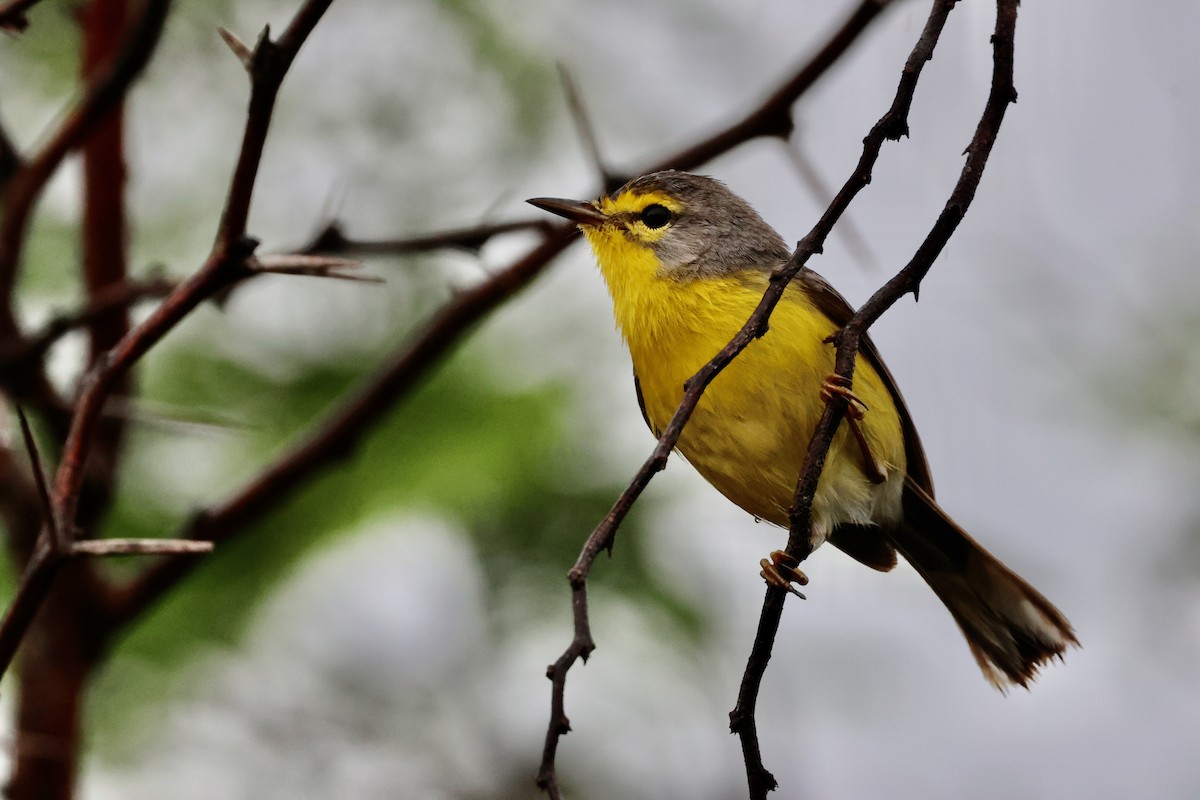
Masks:
[[[854,313],[846,326],[834,337],[838,343],[835,371],[846,379],[846,385],[850,385],[848,381],[853,377],[854,359],[866,329],[904,295],[912,293],[914,297],[917,296],[922,279],[929,272],[938,254],[941,254],[942,248],[949,241],[950,235],[958,228],[959,222],[961,222],[962,216],[974,198],[976,188],[979,186],[979,180],[988,162],[988,156],[991,154],[1000,125],[1004,119],[1004,112],[1009,103],[1016,102],[1016,90],[1013,88],[1013,46],[1016,30],[1016,4],[1018,0],[997,0],[996,30],[992,36],[994,67],[991,90],[988,95],[984,112],[979,118],[979,124],[976,127],[974,137],[967,148],[966,163],[962,166],[949,200],[947,200],[932,229],[920,247],[917,248],[916,254],[908,264],[871,295],[870,300]],[[935,2],[935,16],[938,13],[940,6],[944,6],[946,12],[948,12],[953,2],[946,0]],[[932,24],[932,22],[934,16],[930,17],[930,23]],[[926,34],[923,36],[923,41],[929,34],[930,26],[926,25]],[[932,35],[930,52],[934,42],[936,42],[936,34]],[[919,43],[918,47],[920,47]],[[797,560],[804,560],[812,549],[809,537],[812,500],[816,495],[817,480],[824,467],[829,444],[833,441],[834,433],[845,411],[846,403],[844,398],[838,398],[826,405],[804,457],[800,477],[796,487],[796,498],[791,511],[791,528],[787,539],[787,553]],[[770,658],[770,646],[779,630],[785,597],[786,593],[782,589],[776,587],[767,588],[767,595],[763,599],[762,613],[758,620],[758,636],[755,639],[754,649],[746,662],[742,690],[738,694],[738,704],[730,714],[730,727],[742,738],[751,800],[764,799],[767,793],[775,788],[775,780],[763,766],[758,752],[754,715],[758,686],[767,669],[767,662]]]

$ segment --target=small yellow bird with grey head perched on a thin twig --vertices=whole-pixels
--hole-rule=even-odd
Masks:
[[[578,223],[592,245],[655,435],[678,408],[684,383],[749,319],[772,271],[791,257],[745,200],[700,175],[643,175],[592,203],[529,203]],[[832,374],[827,339],[852,313],[823,278],[800,272],[768,332],[708,386],[678,450],[726,498],[787,525],[823,404],[844,395],[846,421],[812,503],[812,546],[829,541],[880,571],[895,566],[899,551],[946,603],[984,676],[1001,690],[1026,686],[1040,664],[1078,645],[1074,631],[934,501],[917,431],[875,345],[863,339],[853,391]],[[806,581],[786,560],[763,566],[770,582]]]

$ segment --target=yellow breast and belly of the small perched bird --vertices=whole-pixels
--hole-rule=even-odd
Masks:
[[[767,283],[762,273],[653,283],[626,297],[624,309],[614,300],[646,414],[661,429],[679,405],[684,381],[732,338]],[[770,330],[714,379],[679,438],[679,451],[696,470],[761,519],[787,524],[800,463],[823,410],[821,384],[833,372],[834,349],[823,342],[833,331],[803,289],[790,287]],[[900,516],[905,452],[895,403],[864,359],[853,391],[869,409],[862,426],[887,480],[876,485],[866,477],[862,449],[842,423],[814,503],[815,543],[840,523],[889,524]]]

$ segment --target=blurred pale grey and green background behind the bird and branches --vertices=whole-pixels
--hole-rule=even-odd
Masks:
[[[178,4],[128,109],[140,273],[190,273],[216,229],[246,98],[216,26],[252,41],[295,5]],[[636,170],[752,107],[848,8],[337,2],[283,86],[251,233],[278,252],[331,218],[388,237],[592,197],[557,62],[610,163]],[[884,12],[802,100],[791,143],[702,172],[799,239],[926,14],[916,0]],[[32,22],[0,42],[0,113],[24,146],[77,74],[70,6],[47,1]],[[907,261],[956,179],[992,22],[985,2],[950,16],[911,139],[884,148],[848,230],[811,264],[856,305]],[[1001,697],[912,570],[822,549],[760,704],[775,796],[1200,795],[1198,32],[1200,6],[1182,0],[1022,6],[1020,100],[976,203],[919,305],[874,329],[942,505],[1066,612],[1082,649]],[[77,197],[72,167],[41,206],[26,320],[77,302]],[[151,419],[205,425],[133,429],[109,530],[162,535],[241,486],[533,240],[370,259],[383,285],[266,277],[203,307],[138,381]],[[55,350],[64,384],[83,351]],[[571,636],[564,576],[652,446],[576,243],[352,463],[220,548],[120,644],[91,693],[80,796],[535,796],[545,666]],[[784,541],[679,459],[652,483],[593,572],[599,649],[570,674],[559,751],[570,796],[745,796],[727,712],[757,560]]]

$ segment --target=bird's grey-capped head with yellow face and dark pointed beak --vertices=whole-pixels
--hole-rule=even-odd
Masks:
[[[674,170],[642,175],[594,203],[538,198],[534,205],[652,248],[676,278],[775,269],[784,239],[725,184]],[[590,237],[590,234],[589,234]]]

